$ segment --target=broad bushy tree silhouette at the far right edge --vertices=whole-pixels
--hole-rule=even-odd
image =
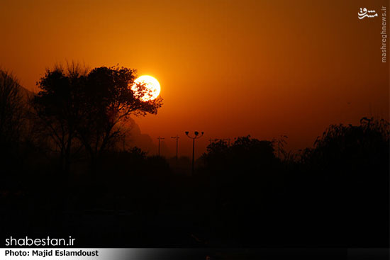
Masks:
[[[316,164],[321,169],[348,167],[351,171],[361,172],[363,165],[386,162],[389,136],[389,123],[386,120],[362,118],[357,126],[330,125],[317,138],[314,148],[306,149],[303,157],[306,162],[310,159],[308,163]]]

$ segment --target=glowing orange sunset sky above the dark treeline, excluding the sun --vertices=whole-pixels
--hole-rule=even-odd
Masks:
[[[182,155],[185,130],[205,132],[198,154],[209,138],[248,134],[288,135],[296,150],[331,123],[389,118],[381,6],[389,19],[388,1],[1,0],[0,67],[35,91],[66,60],[150,74],[164,106],[135,120],[172,152],[181,135]],[[359,20],[360,7],[379,17]]]

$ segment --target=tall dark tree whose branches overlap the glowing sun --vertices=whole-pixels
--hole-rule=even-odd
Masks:
[[[121,123],[130,115],[155,114],[162,106],[162,98],[141,101],[150,91],[138,84],[133,91],[135,71],[124,67],[99,67],[89,72],[82,91],[81,111],[83,121],[77,134],[89,153],[91,165],[96,166],[101,153],[121,135]]]

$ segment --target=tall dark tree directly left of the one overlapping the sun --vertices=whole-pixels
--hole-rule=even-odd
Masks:
[[[65,173],[69,172],[71,152],[77,125],[82,123],[80,103],[85,86],[87,69],[79,64],[68,64],[46,71],[38,81],[41,89],[33,98],[35,114],[60,149],[60,164]]]

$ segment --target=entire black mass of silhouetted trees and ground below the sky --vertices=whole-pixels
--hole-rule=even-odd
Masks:
[[[132,70],[58,67],[36,95],[0,76],[2,237],[72,235],[76,247],[389,244],[386,120],[330,125],[294,156],[281,141],[215,140],[191,176],[188,158],[120,148],[121,120],[161,106],[132,99]]]

